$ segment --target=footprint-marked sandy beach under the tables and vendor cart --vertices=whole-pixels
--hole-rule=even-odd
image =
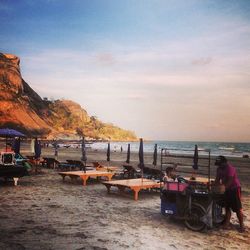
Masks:
[[[23,154],[30,154],[27,148]],[[46,148],[43,156],[53,156]],[[105,152],[87,151],[88,161],[105,162]],[[60,149],[59,160],[80,159],[80,149]],[[126,153],[112,152],[110,165],[121,166]],[[132,163],[136,165],[137,154]],[[152,155],[145,155],[152,163]],[[159,192],[141,192],[134,201],[131,192],[107,194],[104,185],[81,180],[62,182],[56,170],[26,176],[18,186],[0,182],[0,249],[249,249],[250,160],[234,159],[243,189],[247,232],[238,232],[236,216],[232,229],[214,228],[192,232],[182,221],[160,213]]]

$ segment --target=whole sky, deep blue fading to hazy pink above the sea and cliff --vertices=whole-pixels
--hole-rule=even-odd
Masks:
[[[0,52],[42,97],[138,137],[250,141],[250,1],[0,0]]]

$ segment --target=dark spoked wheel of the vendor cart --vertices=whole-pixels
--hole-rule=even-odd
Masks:
[[[200,220],[206,214],[205,209],[196,203],[192,203],[191,210],[186,208],[185,212],[185,225],[193,231],[202,231],[205,229],[206,224]]]

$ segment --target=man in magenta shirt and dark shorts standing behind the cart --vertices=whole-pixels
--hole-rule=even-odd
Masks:
[[[226,219],[223,223],[223,228],[228,229],[231,219],[231,210],[236,213],[240,223],[240,232],[244,232],[243,212],[241,204],[241,186],[237,177],[236,169],[229,164],[226,157],[220,155],[215,160],[215,165],[218,166],[216,173],[216,184],[225,185],[225,206]]]

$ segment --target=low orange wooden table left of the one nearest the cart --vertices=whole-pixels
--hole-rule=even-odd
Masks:
[[[107,177],[110,181],[114,175],[113,172],[107,172],[107,171],[96,171],[96,170],[89,170],[84,173],[84,171],[70,171],[70,172],[59,172],[59,175],[62,176],[63,181],[66,176],[69,176],[71,180],[76,179],[77,177],[80,177],[83,181],[83,186],[87,185],[87,180],[90,177]]]

